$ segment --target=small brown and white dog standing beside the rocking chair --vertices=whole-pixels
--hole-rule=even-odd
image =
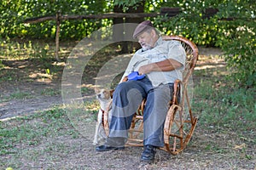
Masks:
[[[97,122],[96,122],[96,132],[94,135],[94,140],[93,140],[93,144],[99,144],[100,142],[103,142],[107,139],[107,135],[105,133],[105,130],[102,126],[102,116],[103,114],[108,111],[108,124],[111,121],[111,96],[113,91],[109,91],[106,89],[100,89],[100,90],[96,90],[98,92],[96,92],[96,99],[99,100],[100,102],[100,109],[98,111],[98,116],[97,116]]]

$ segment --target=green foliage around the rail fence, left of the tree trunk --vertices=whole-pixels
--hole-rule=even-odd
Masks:
[[[29,18],[64,14],[101,14],[108,12],[108,1],[73,0],[14,0],[3,1],[0,6],[2,37],[55,37],[55,21],[49,20],[36,24],[25,24]],[[106,24],[105,24],[106,25]],[[104,25],[104,26],[105,26]],[[102,26],[99,20],[65,20],[61,22],[61,38],[79,39]]]

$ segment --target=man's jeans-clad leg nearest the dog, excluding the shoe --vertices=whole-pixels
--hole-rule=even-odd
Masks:
[[[113,93],[113,116],[109,127],[109,137],[128,137],[132,117],[151,88],[151,82],[147,78],[143,81],[129,81],[119,84]]]

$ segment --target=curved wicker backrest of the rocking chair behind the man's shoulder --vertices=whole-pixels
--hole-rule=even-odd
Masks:
[[[198,48],[196,47],[194,42],[191,42],[188,38],[179,37],[179,36],[163,36],[163,40],[177,40],[181,42],[186,54],[186,65],[185,70],[183,71],[183,83],[189,81],[189,77],[194,71],[195,64],[198,59]]]

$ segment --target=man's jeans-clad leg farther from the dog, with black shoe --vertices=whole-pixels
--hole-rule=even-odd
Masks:
[[[141,161],[154,161],[156,147],[164,146],[163,127],[172,99],[171,84],[160,85],[148,94],[143,113],[144,150]]]

